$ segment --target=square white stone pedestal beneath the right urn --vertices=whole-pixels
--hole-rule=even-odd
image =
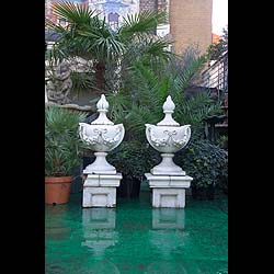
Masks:
[[[153,207],[185,207],[185,190],[191,186],[193,178],[187,175],[153,175],[151,173],[145,175],[149,187],[152,189]]]

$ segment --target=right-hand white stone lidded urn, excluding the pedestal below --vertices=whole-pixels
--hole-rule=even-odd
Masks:
[[[175,105],[169,95],[163,104],[164,118],[157,125],[146,124],[149,144],[161,152],[162,161],[151,169],[153,175],[185,175],[185,171],[173,162],[174,153],[186,146],[191,138],[191,125],[180,126],[173,117]]]

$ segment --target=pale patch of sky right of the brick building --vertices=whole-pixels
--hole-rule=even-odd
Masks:
[[[228,25],[228,0],[213,0],[213,33],[221,35]]]

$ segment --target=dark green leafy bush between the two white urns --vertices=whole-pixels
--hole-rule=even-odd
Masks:
[[[142,180],[159,157],[147,142],[138,140],[123,141],[107,156],[107,161],[126,178]]]

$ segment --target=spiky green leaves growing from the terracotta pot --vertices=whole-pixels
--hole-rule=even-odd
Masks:
[[[80,163],[78,124],[85,114],[58,106],[45,109],[45,175],[70,175]]]

